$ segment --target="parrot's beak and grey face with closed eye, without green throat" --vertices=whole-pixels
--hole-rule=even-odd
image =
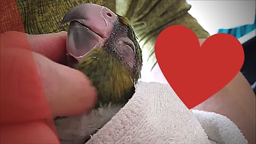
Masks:
[[[93,49],[103,47],[132,70],[136,81],[140,76],[142,54],[129,20],[105,6],[82,4],[69,10],[62,24],[69,22],[68,61],[71,66],[86,59]]]

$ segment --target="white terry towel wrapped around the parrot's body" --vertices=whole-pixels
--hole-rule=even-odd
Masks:
[[[69,139],[81,141],[78,140],[82,138],[81,132],[86,131],[83,125],[89,122],[83,116],[75,119],[66,125],[78,123],[79,128],[65,133],[66,136],[69,133]],[[247,140],[227,117],[189,110],[169,84],[139,82],[129,102],[87,143],[247,143]]]

